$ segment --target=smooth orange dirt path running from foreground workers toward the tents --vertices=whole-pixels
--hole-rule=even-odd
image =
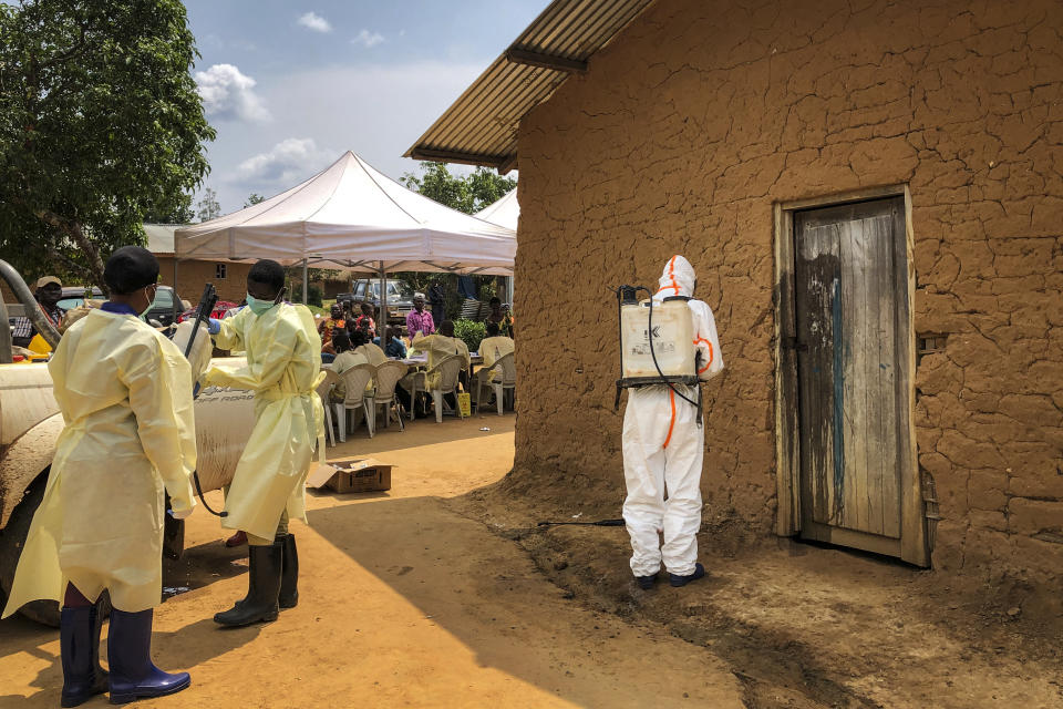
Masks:
[[[157,664],[189,670],[193,686],[138,706],[742,707],[739,681],[709,650],[580,607],[525,552],[447,507],[506,473],[513,424],[417,421],[329,449],[394,463],[394,487],[309,497],[312,526],[292,525],[300,604],[272,624],[211,621],[242,596],[246,562],[198,511],[154,636]],[[0,623],[0,707],[56,707],[61,684],[56,631]]]

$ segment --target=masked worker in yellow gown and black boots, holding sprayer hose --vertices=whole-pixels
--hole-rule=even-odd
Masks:
[[[324,409],[316,388],[321,337],[303,306],[281,302],[285,270],[260,260],[247,275],[247,307],[211,320],[216,345],[244,350],[247,364],[211,366],[204,383],[255,392],[255,429],[225,497],[221,526],[247,533],[248,590],[214,616],[225,626],[277,618],[298,603],[299,557],[288,520],[306,521],[305,482],[314,445],[324,450]]]

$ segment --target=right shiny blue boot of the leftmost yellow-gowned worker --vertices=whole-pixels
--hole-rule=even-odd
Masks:
[[[107,662],[111,665],[111,703],[164,697],[187,689],[188,672],[171,675],[152,662],[152,609],[111,612]]]

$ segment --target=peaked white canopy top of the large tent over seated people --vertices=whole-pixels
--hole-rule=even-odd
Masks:
[[[513,273],[513,229],[406,189],[348,151],[287,192],[177,229],[179,259],[311,264],[355,271]]]

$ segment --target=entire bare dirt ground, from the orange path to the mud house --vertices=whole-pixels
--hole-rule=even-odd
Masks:
[[[714,524],[706,582],[638,589],[622,528],[535,526],[618,513],[561,484],[513,489],[513,427],[419,421],[330,449],[394,463],[394,486],[309,496],[311,526],[292,525],[300,604],[269,625],[211,621],[246,561],[197,512],[154,637],[193,687],[142,705],[1063,707],[1057,607],[1018,586],[950,587]],[[58,706],[61,681],[55,630],[0,623],[0,707]]]

